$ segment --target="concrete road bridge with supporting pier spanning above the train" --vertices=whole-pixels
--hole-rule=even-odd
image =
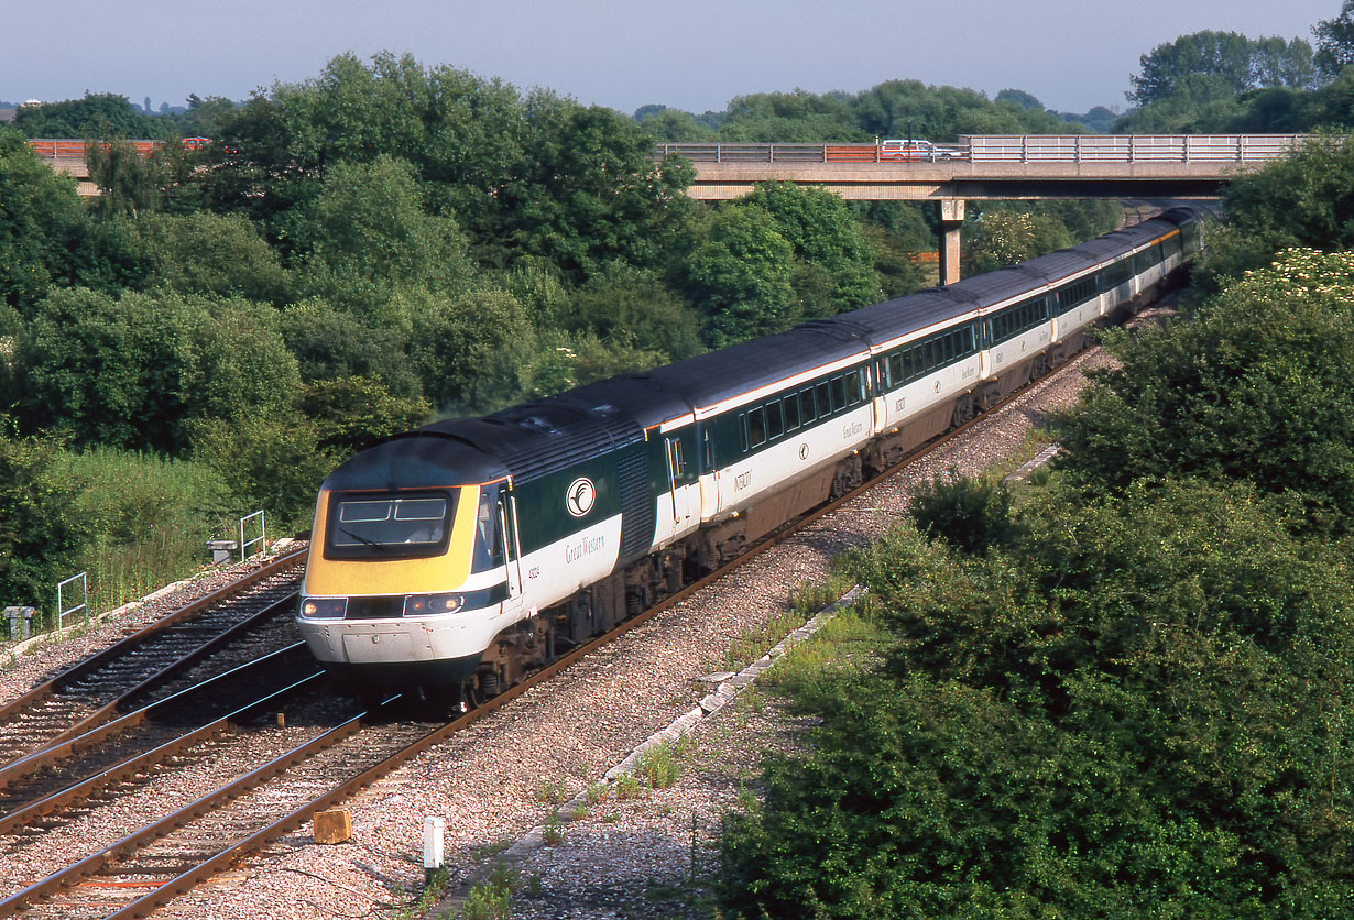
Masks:
[[[854,202],[936,202],[941,283],[959,280],[967,200],[1215,199],[1232,177],[1304,143],[1300,134],[961,135],[957,145],[662,143],[692,161],[688,195],[723,202],[756,183],[816,185]]]

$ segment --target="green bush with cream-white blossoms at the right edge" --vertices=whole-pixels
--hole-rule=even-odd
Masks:
[[[1200,307],[1194,322],[1108,337],[1122,367],[1098,373],[1062,429],[1070,482],[1250,479],[1300,497],[1307,526],[1354,513],[1354,262],[1289,252]]]

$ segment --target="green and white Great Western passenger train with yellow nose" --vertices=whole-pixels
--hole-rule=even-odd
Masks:
[[[493,695],[1072,357],[1205,216],[390,437],[321,486],[299,630],[347,691]]]

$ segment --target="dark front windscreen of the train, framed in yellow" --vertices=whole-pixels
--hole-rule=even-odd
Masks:
[[[447,548],[456,501],[451,492],[332,495],[326,556],[435,556]]]

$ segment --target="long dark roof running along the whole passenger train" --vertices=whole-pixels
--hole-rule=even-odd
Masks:
[[[467,486],[512,475],[527,482],[643,441],[646,430],[781,380],[861,356],[869,345],[1044,287],[1127,253],[1177,227],[1193,211],[1117,230],[1022,265],[975,275],[697,357],[598,380],[485,418],[435,422],[397,434],[334,469],[332,490]]]

